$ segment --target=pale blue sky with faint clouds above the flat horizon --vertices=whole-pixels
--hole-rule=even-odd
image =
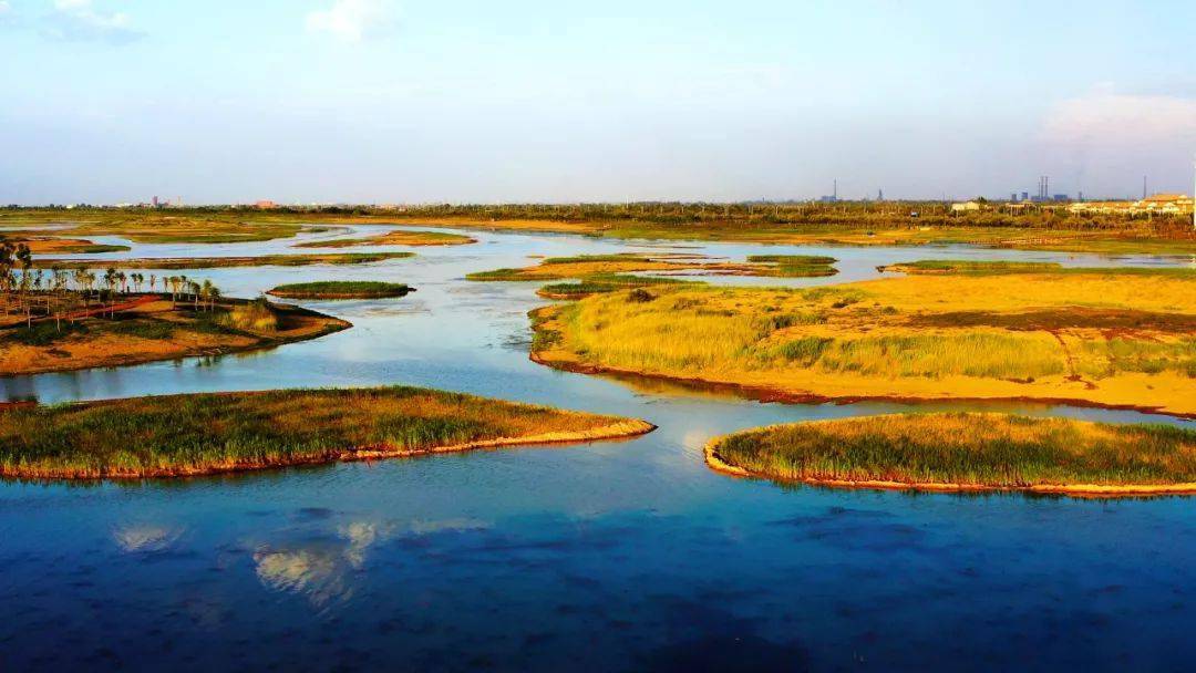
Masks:
[[[1192,192],[1196,2],[0,0],[0,203]]]

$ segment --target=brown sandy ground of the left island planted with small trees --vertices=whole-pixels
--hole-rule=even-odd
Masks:
[[[165,285],[165,283],[164,283]],[[72,298],[73,299],[73,298]],[[35,299],[39,301],[39,299]],[[53,300],[51,300],[53,301]],[[61,301],[59,299],[57,301]],[[0,320],[0,374],[87,369],[271,348],[352,325],[264,300],[129,294]]]

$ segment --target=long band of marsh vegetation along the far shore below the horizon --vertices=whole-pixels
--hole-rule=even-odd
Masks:
[[[791,245],[975,244],[1100,253],[1196,253],[1183,215],[1070,213],[1062,204],[952,213],[939,201],[840,203],[437,204],[397,208],[248,207],[73,210],[0,209],[0,225],[74,221],[68,235],[139,243],[232,243],[295,235],[311,224],[403,224],[581,233],[622,239],[730,240]],[[303,222],[303,224],[300,224]]]

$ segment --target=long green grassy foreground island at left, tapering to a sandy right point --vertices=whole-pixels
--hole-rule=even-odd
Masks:
[[[413,387],[142,397],[0,410],[0,475],[209,475],[639,435],[643,421]]]

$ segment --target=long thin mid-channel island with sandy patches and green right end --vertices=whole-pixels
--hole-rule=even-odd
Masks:
[[[465,276],[470,281],[559,281],[578,279],[600,281],[602,276],[634,273],[687,275],[808,277],[832,276],[837,259],[804,255],[756,255],[748,262],[719,262],[702,255],[579,255],[549,257],[536,267],[495,269]],[[624,276],[626,277],[626,276]]]

